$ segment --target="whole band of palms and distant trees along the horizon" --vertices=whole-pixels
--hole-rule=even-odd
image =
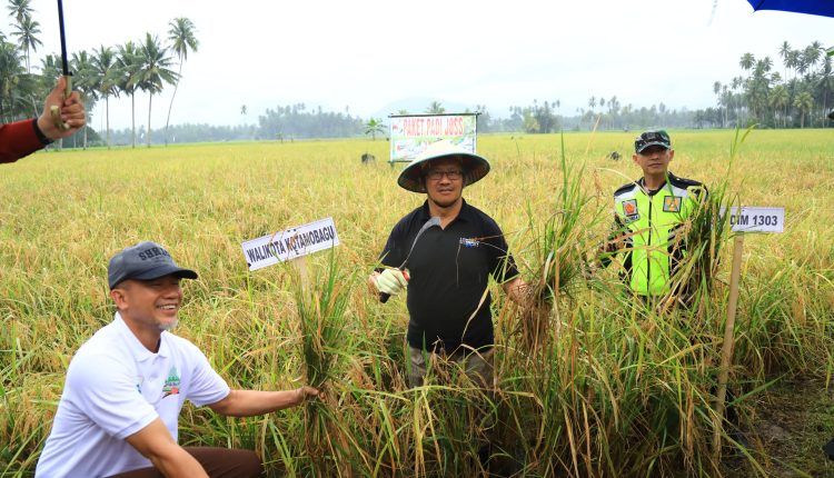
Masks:
[[[31,0],[9,0],[11,33],[0,31],[0,119],[9,122],[37,116],[42,98],[61,74],[61,59],[47,54],[39,67],[31,64],[32,53],[43,46],[39,36],[40,23],[34,20]],[[165,40],[146,33],[138,41],[129,40],[118,46],[100,46],[91,51],[72,52],[69,60],[73,72],[73,88],[79,90],[89,112],[103,102],[106,131],[85,128],[81,138],[72,138],[66,146],[130,145],[137,138],[150,146],[191,141],[232,140],[291,140],[295,138],[345,138],[385,135],[380,118],[361,119],[344,112],[324,111],[321,107],[307,108],[305,103],[267,108],[258,116],[256,125],[238,127],[209,125],[179,125],[171,127],[170,113],[182,78],[182,66],[189,52],[196,52],[199,41],[195,24],[188,18],[169,22]],[[623,104],[616,97],[592,96],[587,108],[562,111],[562,101],[534,99],[533,104],[512,106],[504,117],[490,113],[486,104],[478,104],[478,130],[481,132],[548,133],[559,130],[631,130],[653,126],[667,128],[735,128],[761,125],[771,128],[826,127],[827,109],[834,103],[834,74],[832,57],[818,41],[793,49],[787,41],[780,47],[783,73],[776,71],[770,57],[756,59],[745,53],[739,60],[742,72],[726,82],[715,81],[713,92],[716,107],[705,109],[669,109],[663,102],[649,107]],[[40,70],[36,72],[33,70]],[[173,87],[165,128],[150,128],[152,99],[167,86]],[[136,96],[148,94],[147,127],[136,127]],[[110,99],[129,98],[131,128],[110,130]],[[241,107],[241,114],[248,108]],[[433,101],[420,113],[443,113],[446,109]],[[471,112],[466,110],[464,112]],[[400,110],[398,114],[408,111]],[[88,125],[91,121],[88,121]],[[160,140],[161,138],[161,140]]]

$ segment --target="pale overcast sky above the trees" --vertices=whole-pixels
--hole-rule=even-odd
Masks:
[[[54,0],[32,7],[40,64],[60,51],[58,14]],[[411,98],[486,104],[498,117],[534,99],[574,114],[592,96],[614,94],[622,104],[695,109],[715,104],[713,82],[738,76],[745,52],[771,56],[782,72],[782,41],[834,44],[834,19],[754,13],[745,0],[66,0],[67,47],[166,39],[176,17],[191,19],[200,46],[182,68],[172,125],[255,123],[296,102],[367,119]],[[152,127],[165,126],[172,91],[153,98]],[[137,126],[146,125],[147,94],[136,102]],[[111,128],[129,127],[130,100],[110,103]],[[101,125],[103,101],[92,118]]]

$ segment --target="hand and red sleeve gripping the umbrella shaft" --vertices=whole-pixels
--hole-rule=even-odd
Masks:
[[[58,84],[47,96],[43,112],[38,118],[0,125],[0,162],[14,162],[83,128],[87,122],[81,97],[78,91],[73,91],[69,98],[63,99],[66,81],[63,77],[58,80]],[[52,121],[52,106],[60,107],[61,121],[67,123],[69,129],[64,130]]]

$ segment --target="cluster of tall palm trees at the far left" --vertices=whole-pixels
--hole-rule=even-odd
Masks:
[[[47,54],[40,64],[40,73],[32,71],[31,56],[43,46],[40,22],[33,17],[31,0],[9,0],[7,6],[11,17],[11,34],[0,32],[0,119],[9,122],[31,118],[39,113],[40,102],[54,87],[62,74],[60,54]],[[136,94],[148,94],[148,125],[150,126],[153,96],[166,86],[173,86],[173,96],[168,107],[170,120],[173,99],[182,64],[188,53],[197,51],[199,41],[193,22],[188,18],[176,18],[169,22],[166,40],[146,33],[138,41],[128,40],[118,46],[100,46],[91,51],[72,52],[68,58],[72,72],[72,87],[81,93],[85,107],[92,110],[98,101],[105,102],[107,119],[106,145],[110,146],[111,98],[129,97],[131,101],[131,145],[136,148]],[[177,68],[175,70],[173,68]],[[88,121],[89,123],[89,121]],[[166,130],[168,123],[166,122]],[[83,129],[83,147],[90,128]],[[151,130],[145,135],[146,143],[151,143]],[[167,135],[165,137],[167,142]]]

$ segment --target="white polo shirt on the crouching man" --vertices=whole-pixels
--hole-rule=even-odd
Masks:
[[[34,475],[105,477],[151,467],[125,438],[159,417],[177,440],[186,399],[203,406],[229,391],[193,343],[162,332],[153,353],[116,312],[72,357]]]

